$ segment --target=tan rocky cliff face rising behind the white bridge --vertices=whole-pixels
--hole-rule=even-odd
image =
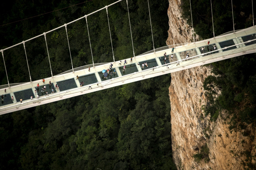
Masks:
[[[173,34],[175,44],[192,42],[191,29],[181,18],[180,0],[169,0],[169,3],[167,45],[173,44]],[[250,168],[250,163],[256,163],[255,128],[248,125],[243,131],[230,131],[224,113],[216,122],[204,116],[203,81],[208,75],[211,69],[205,66],[171,73],[171,143],[176,167],[187,170]],[[195,154],[200,157],[200,153],[202,159],[193,158]]]

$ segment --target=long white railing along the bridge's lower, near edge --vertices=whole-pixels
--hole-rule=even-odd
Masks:
[[[251,41],[256,41],[256,39],[251,40]],[[240,43],[240,44],[246,44],[246,43],[251,42],[251,41],[247,41],[247,42]],[[223,49],[227,49],[227,48],[230,48],[230,47],[232,47],[232,46],[225,47]],[[13,109],[13,108],[18,108],[20,106],[30,105],[30,104],[33,104],[33,103],[40,103],[43,100],[53,99],[53,98],[57,98],[57,97],[62,98],[63,96],[71,95],[71,94],[74,94],[74,93],[82,93],[86,90],[89,90],[89,87],[101,88],[101,87],[104,87],[106,85],[111,85],[113,83],[125,82],[127,80],[135,79],[135,78],[138,78],[138,77],[143,78],[147,75],[156,74],[156,73],[160,73],[160,72],[166,72],[166,71],[170,71],[170,70],[181,68],[181,67],[184,68],[185,66],[188,66],[188,65],[191,65],[191,64],[204,63],[208,60],[216,59],[216,58],[219,58],[219,57],[224,58],[227,55],[240,53],[240,52],[245,52],[247,50],[252,50],[252,49],[256,49],[256,44],[239,47],[239,48],[236,48],[235,50],[232,50],[232,51],[219,52],[219,53],[210,54],[210,55],[206,55],[206,56],[203,56],[205,54],[201,54],[201,55],[190,57],[188,59],[183,59],[183,60],[171,62],[171,63],[164,64],[164,65],[161,65],[161,66],[157,66],[155,68],[150,68],[150,69],[147,69],[147,70],[144,70],[144,71],[138,71],[138,72],[135,72],[135,73],[123,75],[122,77],[117,77],[117,78],[113,78],[113,79],[110,79],[110,80],[105,80],[105,81],[102,81],[102,82],[99,82],[99,83],[93,83],[93,84],[89,84],[89,85],[86,85],[86,86],[83,86],[83,87],[78,87],[78,88],[70,89],[70,90],[67,90],[67,91],[63,91],[63,92],[56,92],[56,93],[49,94],[49,95],[46,95],[46,96],[41,96],[39,98],[24,101],[24,102],[19,103],[19,104],[14,104],[14,105],[11,105],[11,106],[0,108],[0,111]],[[213,52],[209,52],[209,53],[213,53]],[[202,57],[200,57],[200,56],[202,56]],[[177,62],[180,62],[180,64],[177,65]]]

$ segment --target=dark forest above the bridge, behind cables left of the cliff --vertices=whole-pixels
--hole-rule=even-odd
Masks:
[[[90,14],[113,2],[115,1],[88,1],[77,6],[1,26],[0,46],[2,49],[5,49],[11,45],[21,43],[26,39],[63,26],[65,23]],[[33,3],[17,1],[14,5],[12,4],[13,2],[10,2],[11,4],[8,4],[8,1],[5,3],[6,9],[1,11],[0,18],[3,24],[68,7],[81,3],[81,1],[34,1]],[[134,52],[135,55],[139,55],[153,49],[148,5],[145,0],[129,0],[128,5]],[[168,27],[163,27],[163,23],[168,23],[167,8],[168,0],[150,1],[155,48],[166,45]],[[107,10],[115,61],[127,59],[133,56],[133,47],[126,1],[123,0],[112,5]],[[73,68],[93,64],[90,44],[94,63],[113,61],[106,10],[103,9],[95,14],[89,15],[87,20],[90,42],[85,18],[67,25]],[[65,27],[48,33],[46,39],[53,75],[72,69]],[[25,46],[32,81],[50,77],[50,65],[44,36],[42,35],[26,42]],[[9,82],[29,82],[29,72],[23,44],[5,50],[4,56]],[[0,62],[0,67],[4,68],[3,62]],[[0,80],[1,84],[8,83],[5,69],[0,70]]]

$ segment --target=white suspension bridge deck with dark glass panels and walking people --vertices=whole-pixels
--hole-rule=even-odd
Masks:
[[[44,84],[41,80],[37,80],[6,88],[6,92],[4,91],[5,88],[3,88],[0,89],[0,95],[4,95],[0,104],[0,115],[247,53],[255,53],[256,41],[251,41],[247,44],[243,43],[254,39],[256,39],[255,26],[235,33],[175,47],[174,53],[171,52],[171,46],[167,46],[157,49],[155,53],[136,56],[132,62],[128,58],[126,59],[127,64],[124,64],[125,60],[122,60],[121,65],[119,61],[112,62],[112,72],[115,70],[117,73],[113,73],[112,76],[108,75],[107,78],[104,78],[102,70],[107,70],[110,63],[95,66],[90,71],[83,69],[74,73],[71,72],[46,78]],[[208,41],[210,42],[209,45]],[[214,45],[216,45],[216,51],[211,52]],[[205,49],[202,51],[201,47],[205,47]],[[166,64],[163,61],[163,54],[165,52],[168,58]],[[190,57],[186,59],[187,53],[189,53]],[[171,60],[171,54],[174,54],[173,60]],[[178,65],[177,61],[179,61]],[[144,62],[147,62],[148,67],[144,66],[142,68],[142,63]],[[123,71],[124,65],[126,65],[125,71]],[[76,79],[77,75],[79,76],[78,80]],[[48,85],[49,81],[52,83],[51,86]],[[81,81],[85,82],[82,87],[80,87]],[[35,87],[37,87],[38,83],[40,88],[35,93]],[[56,84],[58,84],[59,89],[55,89]],[[41,92],[43,86],[46,86],[48,95],[45,92]],[[51,93],[51,89],[54,90],[54,93]],[[39,98],[37,98],[37,94]],[[11,96],[14,97],[14,100],[11,100]],[[33,97],[32,100],[30,99],[31,96]],[[23,99],[22,103],[20,99]]]

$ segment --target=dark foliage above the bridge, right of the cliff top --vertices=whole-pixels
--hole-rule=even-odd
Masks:
[[[239,30],[253,26],[253,8],[251,0],[232,0],[234,29]],[[212,4],[211,4],[212,3]],[[212,14],[211,14],[212,6]],[[195,33],[202,39],[213,37],[213,27],[215,36],[233,30],[232,4],[231,0],[182,0],[182,16],[187,19],[187,23],[192,25]]]

